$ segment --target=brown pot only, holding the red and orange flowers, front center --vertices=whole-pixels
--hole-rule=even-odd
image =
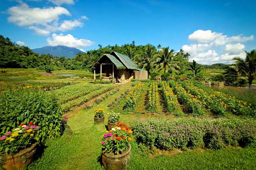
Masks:
[[[124,170],[129,166],[131,154],[131,145],[122,154],[104,153],[102,151],[102,163],[106,170]]]

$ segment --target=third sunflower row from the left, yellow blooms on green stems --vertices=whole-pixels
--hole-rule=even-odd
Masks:
[[[179,108],[177,95],[173,93],[168,82],[162,82],[162,96],[165,107],[169,113],[172,113]]]

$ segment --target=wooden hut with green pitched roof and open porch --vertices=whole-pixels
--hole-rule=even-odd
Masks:
[[[132,78],[148,79],[148,71],[138,68],[127,55],[115,51],[103,54],[91,67],[94,68],[94,80],[96,80],[96,74],[100,74],[102,80],[114,78],[116,82],[124,82]]]

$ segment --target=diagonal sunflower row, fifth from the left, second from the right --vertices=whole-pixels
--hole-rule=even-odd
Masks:
[[[205,108],[208,108],[212,113],[217,116],[225,116],[229,105],[225,104],[221,99],[216,98],[215,95],[207,94],[201,88],[198,88],[190,82],[181,82],[182,87],[189,93],[193,94],[197,99],[203,102]]]

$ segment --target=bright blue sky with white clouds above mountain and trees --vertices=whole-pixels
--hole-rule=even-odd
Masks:
[[[201,64],[256,49],[256,0],[0,0],[0,34],[31,49],[148,43]]]

